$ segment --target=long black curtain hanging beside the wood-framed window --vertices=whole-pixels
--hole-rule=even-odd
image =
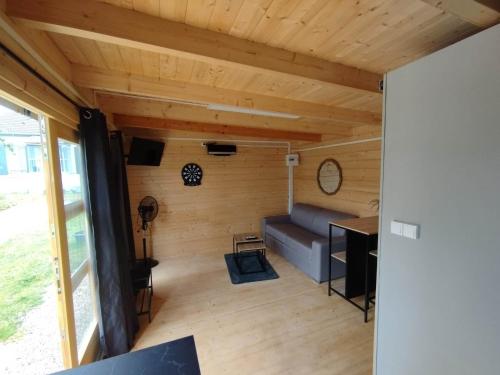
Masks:
[[[123,155],[113,156],[106,118],[97,109],[80,110],[80,135],[99,285],[101,349],[104,357],[112,357],[130,350],[138,329],[129,271],[133,242],[123,194],[127,186],[116,161]]]

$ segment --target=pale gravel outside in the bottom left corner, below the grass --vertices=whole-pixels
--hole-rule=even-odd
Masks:
[[[0,373],[41,375],[63,369],[54,286],[24,317],[17,338],[0,343]]]

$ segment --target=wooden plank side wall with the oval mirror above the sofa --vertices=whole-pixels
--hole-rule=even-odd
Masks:
[[[370,205],[379,198],[381,141],[351,144],[299,152],[300,165],[294,171],[294,201],[349,212],[357,216],[376,215]],[[343,182],[335,195],[318,187],[316,173],[324,159],[337,160]]]

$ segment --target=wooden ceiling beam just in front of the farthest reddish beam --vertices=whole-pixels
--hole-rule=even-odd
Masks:
[[[213,111],[200,106],[167,102],[161,99],[137,98],[123,95],[97,94],[97,103],[102,111],[108,113],[208,122],[219,125],[233,124],[256,129],[319,133],[333,137],[349,137],[353,134],[353,129],[357,129],[352,125],[339,124],[335,121],[283,119],[245,113]],[[376,128],[370,125],[368,127]]]

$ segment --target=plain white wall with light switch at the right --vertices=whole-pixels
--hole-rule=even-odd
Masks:
[[[385,86],[377,374],[500,374],[500,25]]]

